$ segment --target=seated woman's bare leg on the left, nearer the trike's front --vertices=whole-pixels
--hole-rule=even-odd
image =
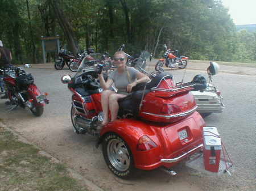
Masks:
[[[103,112],[102,125],[106,125],[109,122],[109,96],[114,94],[114,91],[105,90],[101,93],[101,107]]]

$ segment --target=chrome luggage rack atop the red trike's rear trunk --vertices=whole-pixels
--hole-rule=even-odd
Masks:
[[[188,83],[179,82],[179,83],[176,83],[178,86],[174,87],[172,84],[170,84],[170,82],[167,81],[167,79],[170,79],[170,78],[174,82],[174,79],[173,79],[172,75],[166,75],[160,80],[158,85],[156,87],[152,87],[151,90],[174,92],[174,91],[184,90],[185,88],[191,88],[191,87],[195,86],[195,84],[188,84]],[[162,81],[166,82],[167,86],[169,87],[168,89],[167,88],[159,88],[159,85],[161,84]]]

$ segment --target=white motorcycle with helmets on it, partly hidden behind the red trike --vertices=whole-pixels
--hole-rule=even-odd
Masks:
[[[203,117],[209,116],[211,113],[221,113],[225,108],[222,102],[223,97],[221,92],[212,83],[212,77],[218,73],[218,70],[218,63],[210,62],[210,66],[207,69],[208,80],[202,75],[196,75],[192,80],[192,83],[205,84],[202,88],[197,88],[196,91],[192,91],[198,106],[197,112]]]

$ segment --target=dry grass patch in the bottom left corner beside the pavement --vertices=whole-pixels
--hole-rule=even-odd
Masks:
[[[69,176],[64,164],[52,163],[34,146],[17,140],[13,133],[0,128],[0,191],[86,190]]]

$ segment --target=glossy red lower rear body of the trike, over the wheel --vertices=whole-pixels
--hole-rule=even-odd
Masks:
[[[133,153],[135,167],[150,170],[161,166],[170,168],[178,162],[162,163],[160,160],[175,158],[203,143],[203,126],[205,126],[203,118],[195,112],[184,120],[171,125],[152,124],[152,122],[134,119],[116,120],[105,126],[101,135],[108,132],[119,134]],[[179,132],[184,129],[187,131],[188,137],[180,140]],[[147,135],[156,147],[146,151],[138,150],[137,145],[143,135]]]

